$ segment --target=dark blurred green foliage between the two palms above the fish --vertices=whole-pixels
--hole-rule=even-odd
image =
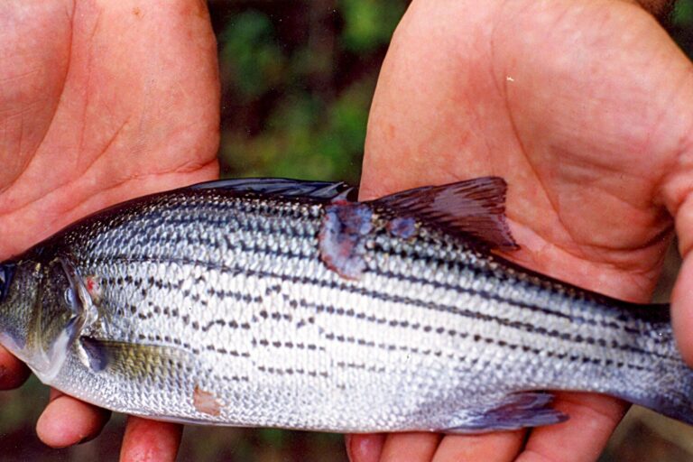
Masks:
[[[278,5],[236,11],[219,33],[225,174],[357,183],[375,79],[407,2]]]

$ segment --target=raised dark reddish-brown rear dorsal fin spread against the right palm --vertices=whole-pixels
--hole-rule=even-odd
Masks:
[[[375,199],[398,216],[418,217],[453,233],[472,236],[502,250],[519,248],[505,221],[507,184],[500,177],[481,177],[441,186],[426,186]]]

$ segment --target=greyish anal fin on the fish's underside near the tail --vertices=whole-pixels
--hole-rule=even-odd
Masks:
[[[568,415],[550,408],[551,393],[524,392],[506,395],[488,409],[465,412],[453,419],[448,433],[476,433],[489,430],[517,430],[541,427],[568,420]]]

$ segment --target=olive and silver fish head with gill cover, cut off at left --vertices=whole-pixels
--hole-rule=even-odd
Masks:
[[[0,264],[0,343],[42,380],[60,371],[85,319],[79,274],[66,259]]]

